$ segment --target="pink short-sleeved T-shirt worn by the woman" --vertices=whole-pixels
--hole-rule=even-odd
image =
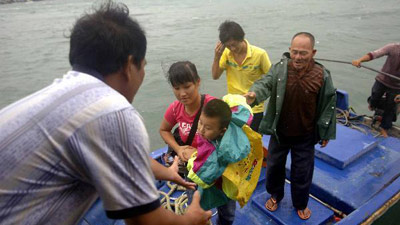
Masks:
[[[215,97],[206,94],[204,97],[204,105],[206,105],[207,102],[209,102],[212,99],[215,99]],[[171,126],[175,126],[175,124],[178,124],[179,135],[181,136],[182,141],[186,142],[190,130],[192,129],[193,121],[196,118],[197,113],[198,112],[196,112],[194,115],[188,115],[185,111],[185,106],[178,100],[175,100],[168,106],[164,114],[164,118]],[[197,147],[197,141],[196,141],[197,135],[198,134],[196,131],[196,136],[192,142],[192,146],[195,148]]]

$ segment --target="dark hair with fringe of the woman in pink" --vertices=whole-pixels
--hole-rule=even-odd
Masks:
[[[172,87],[176,87],[187,82],[196,83],[200,80],[200,77],[193,63],[189,61],[179,61],[171,65],[168,70],[167,79]]]

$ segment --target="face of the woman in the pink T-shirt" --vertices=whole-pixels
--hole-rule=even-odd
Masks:
[[[190,105],[196,101],[197,97],[200,95],[199,86],[200,81],[196,83],[186,82],[172,87],[172,90],[174,91],[175,97],[178,101],[183,105]]]

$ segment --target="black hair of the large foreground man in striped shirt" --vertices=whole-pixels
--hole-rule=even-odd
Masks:
[[[70,36],[69,62],[96,70],[103,76],[119,71],[132,55],[140,69],[146,55],[146,36],[129,17],[129,9],[108,1],[78,19]]]

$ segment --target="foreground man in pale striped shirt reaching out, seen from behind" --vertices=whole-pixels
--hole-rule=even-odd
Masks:
[[[199,195],[184,216],[160,206],[154,175],[194,188],[150,159],[131,102],[146,37],[125,5],[105,3],[72,29],[72,70],[0,111],[1,224],[76,224],[100,197],[126,224],[206,224]],[[154,175],[153,175],[154,173]]]

